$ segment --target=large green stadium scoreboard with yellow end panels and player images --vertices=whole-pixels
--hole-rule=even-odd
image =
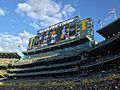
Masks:
[[[36,36],[29,39],[28,50],[40,49],[76,37],[89,36],[93,38],[93,20],[79,20],[73,17],[55,25],[37,31]]]

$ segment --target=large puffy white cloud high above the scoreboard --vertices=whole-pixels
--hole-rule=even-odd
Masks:
[[[54,0],[28,0],[18,3],[17,11],[33,20],[38,20],[41,26],[48,26],[60,22],[63,17],[71,15],[75,9],[71,4],[60,5]]]

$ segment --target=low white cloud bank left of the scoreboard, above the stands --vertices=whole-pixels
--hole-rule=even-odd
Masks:
[[[32,34],[24,31],[18,36],[0,33],[0,51],[21,52],[27,49],[29,38]],[[19,47],[20,46],[20,47]]]

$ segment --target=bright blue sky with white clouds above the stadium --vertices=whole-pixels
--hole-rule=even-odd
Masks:
[[[98,20],[104,26],[112,22],[114,15],[109,12],[113,8],[119,17],[120,0],[0,0],[0,51],[26,50],[28,39],[37,30],[76,15],[80,19],[91,17],[95,40],[102,41],[96,33]]]

